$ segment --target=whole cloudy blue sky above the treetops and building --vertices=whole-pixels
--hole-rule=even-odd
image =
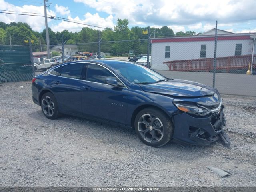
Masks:
[[[114,28],[117,19],[128,19],[129,27],[168,26],[174,33],[205,32],[218,28],[230,32],[256,32],[255,0],[48,0],[48,15],[84,24]],[[43,0],[0,0],[0,10],[44,14]],[[0,11],[1,12],[1,11]],[[26,22],[42,32],[44,17],[0,13],[0,21]],[[53,31],[80,31],[85,25],[48,19]],[[88,26],[90,27],[90,26]],[[93,27],[90,27],[93,28]],[[100,29],[100,28],[95,28]],[[102,30],[102,29],[100,29]]]

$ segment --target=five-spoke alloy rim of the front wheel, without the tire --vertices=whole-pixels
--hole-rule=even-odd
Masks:
[[[143,114],[139,118],[138,131],[147,142],[160,142],[164,136],[163,128],[162,121],[154,114]]]

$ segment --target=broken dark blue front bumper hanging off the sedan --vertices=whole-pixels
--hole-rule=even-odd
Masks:
[[[221,139],[224,144],[230,144],[223,127],[226,120],[223,106],[219,114],[207,118],[196,118],[187,113],[177,114],[173,117],[173,141],[184,144],[207,146]]]

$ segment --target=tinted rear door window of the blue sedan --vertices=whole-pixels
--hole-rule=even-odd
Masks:
[[[81,79],[83,66],[84,66],[83,63],[73,63],[73,64],[64,65],[62,66],[60,76],[68,77],[72,79]]]

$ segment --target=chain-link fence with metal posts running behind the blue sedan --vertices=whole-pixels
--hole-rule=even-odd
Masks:
[[[120,41],[98,37],[90,43],[50,45],[50,59],[46,46],[0,46],[0,83],[28,80],[33,70],[40,74],[63,62],[100,57],[136,62],[168,78],[215,85],[222,94],[256,96],[256,33],[217,30],[215,38],[215,32],[170,38],[148,34],[145,39]]]

